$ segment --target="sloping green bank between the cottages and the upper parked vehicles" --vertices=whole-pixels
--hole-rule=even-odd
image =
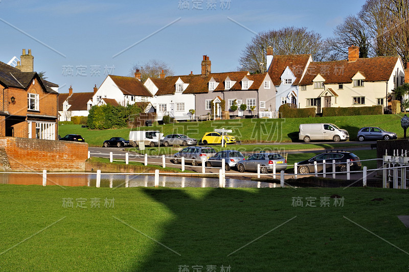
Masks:
[[[171,133],[183,133],[190,137],[200,139],[206,132],[214,129],[232,129],[232,135],[243,142],[291,142],[298,141],[300,123],[332,122],[340,128],[346,129],[355,140],[359,128],[365,126],[377,126],[384,130],[396,132],[399,138],[403,138],[403,130],[400,127],[400,115],[363,115],[363,116],[334,116],[313,118],[286,118],[286,119],[240,119],[240,120],[216,120],[203,122],[182,122],[144,129],[160,130],[165,135]],[[59,135],[81,134],[85,141],[92,146],[102,146],[104,140],[111,137],[129,138],[129,129],[88,130],[80,125],[60,125]]]

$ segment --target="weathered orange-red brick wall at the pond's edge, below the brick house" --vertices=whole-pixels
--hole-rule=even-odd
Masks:
[[[85,170],[88,144],[0,137],[13,171]]]

